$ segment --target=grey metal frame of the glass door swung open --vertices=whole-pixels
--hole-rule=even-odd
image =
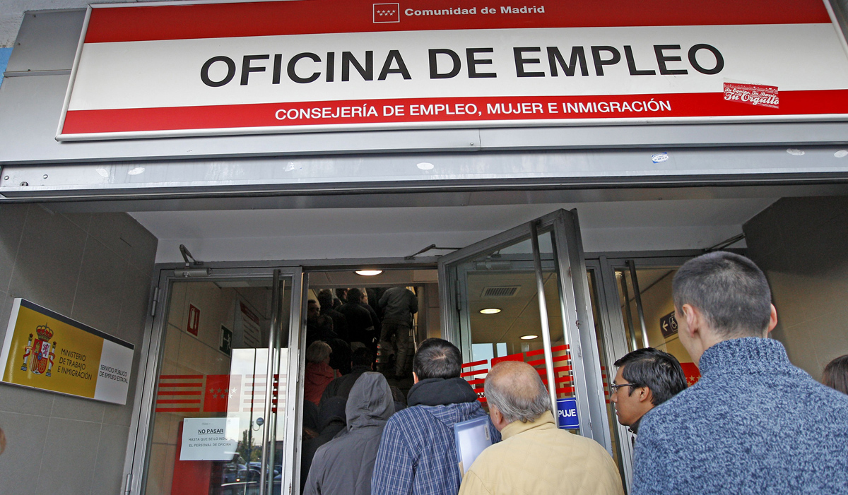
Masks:
[[[595,339],[594,321],[591,318],[589,280],[583,259],[583,241],[577,220],[577,210],[557,210],[508,231],[475,242],[454,253],[446,254],[438,261],[439,302],[442,308],[442,336],[450,342],[465,346],[460,338],[460,301],[463,299],[465,281],[457,266],[483,253],[494,251],[534,238],[535,231],[552,232],[555,271],[560,282],[559,294],[566,343],[571,345],[572,370],[574,372],[575,398],[580,421],[580,434],[594,438],[610,453],[610,431],[606,414],[604,388],[600,376],[600,360]],[[533,246],[534,260],[540,262],[538,245]],[[541,276],[540,266],[535,268],[537,281]],[[550,331],[542,313],[544,296],[540,295],[540,317],[545,337],[544,354],[547,369],[552,372]],[[467,328],[467,326],[466,326]],[[585,349],[585,351],[584,351]],[[470,352],[470,348],[465,350]],[[468,355],[468,354],[466,354]],[[552,386],[553,381],[549,380]],[[552,404],[556,408],[556,403]]]

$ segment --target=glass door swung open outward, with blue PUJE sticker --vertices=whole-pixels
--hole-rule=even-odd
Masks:
[[[548,387],[561,427],[611,452],[577,211],[450,253],[438,269],[442,333],[462,351],[462,375],[481,402],[491,366],[525,361]]]

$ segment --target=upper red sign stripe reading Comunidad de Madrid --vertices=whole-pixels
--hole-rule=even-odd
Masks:
[[[399,8],[395,7],[396,5]],[[428,31],[655,25],[830,23],[821,0],[653,0],[498,5],[483,13],[475,0],[373,0],[207,3],[93,8],[86,43],[138,42],[371,31]],[[471,14],[471,8],[475,8]],[[468,10],[462,14],[462,9]],[[431,10],[433,14],[425,14]],[[447,12],[446,12],[447,11]],[[416,15],[417,13],[417,15]]]

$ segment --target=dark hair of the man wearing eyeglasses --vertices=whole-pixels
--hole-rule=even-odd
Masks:
[[[655,348],[636,349],[624,354],[616,361],[616,366],[624,366],[622,377],[635,387],[648,387],[650,403],[655,406],[666,402],[686,388],[686,375],[678,359],[669,353]],[[629,388],[633,393],[633,387]],[[621,393],[621,392],[619,392]]]

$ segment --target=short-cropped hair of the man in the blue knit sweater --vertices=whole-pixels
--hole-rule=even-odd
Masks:
[[[717,336],[762,336],[771,316],[766,275],[750,259],[716,251],[689,259],[674,275],[674,307],[700,310]]]

